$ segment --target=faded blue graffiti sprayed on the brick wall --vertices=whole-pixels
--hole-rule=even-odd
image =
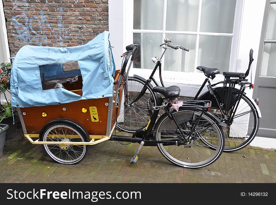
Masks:
[[[17,15],[12,17],[12,22],[14,23],[15,29],[17,34],[19,35],[19,40],[20,41],[27,41],[27,42],[36,42],[37,45],[42,45],[43,42],[40,42],[41,39],[47,39],[47,35],[41,34],[41,32],[36,31],[32,27],[33,20],[40,21],[42,20],[42,28],[48,27],[51,29],[50,34],[51,36],[54,36],[56,40],[58,40],[58,43],[60,45],[63,44],[62,36],[67,35],[67,29],[64,29],[64,23],[62,22],[62,8],[59,9],[59,18],[58,18],[58,23],[57,23],[57,28],[59,28],[59,31],[57,32],[58,34],[55,34],[53,32],[53,28],[50,26],[50,23],[48,19],[45,17],[45,15],[41,12],[40,17],[36,15],[30,16],[30,18],[27,17],[25,12],[23,12],[23,15]],[[20,23],[19,20],[24,19],[24,23]],[[39,23],[38,23],[39,24]],[[20,29],[19,29],[20,28]],[[35,36],[35,37],[32,37]]]

